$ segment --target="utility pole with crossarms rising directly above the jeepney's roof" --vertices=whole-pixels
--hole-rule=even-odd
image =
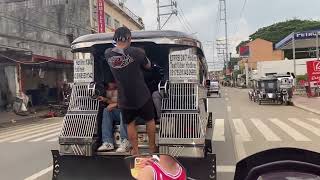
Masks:
[[[169,12],[165,12],[161,14],[162,9],[169,9]],[[161,30],[169,21],[172,15],[178,15],[177,10],[177,2],[175,0],[170,0],[170,4],[160,5],[160,0],[157,0],[157,23],[158,23],[158,30]],[[161,17],[166,17],[165,22],[161,25]]]

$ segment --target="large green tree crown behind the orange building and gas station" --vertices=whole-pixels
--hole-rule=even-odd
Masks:
[[[307,30],[320,29],[320,21],[292,19],[284,22],[278,22],[267,27],[258,29],[249,36],[249,40],[242,41],[237,47],[237,52],[242,44],[246,44],[257,38],[271,41],[274,44],[285,38],[292,32],[301,32]]]

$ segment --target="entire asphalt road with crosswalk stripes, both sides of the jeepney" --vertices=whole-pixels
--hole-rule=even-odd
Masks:
[[[209,99],[218,180],[232,180],[236,163],[262,150],[298,147],[320,151],[320,116],[293,106],[258,105],[248,90],[222,89]],[[61,118],[0,127],[0,179],[51,179],[51,149],[58,149]]]

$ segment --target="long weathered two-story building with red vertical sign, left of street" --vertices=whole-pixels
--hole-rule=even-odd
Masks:
[[[20,92],[35,105],[40,96],[57,100],[61,82],[73,81],[70,44],[76,37],[99,32],[101,24],[105,32],[144,29],[142,19],[116,0],[3,0],[0,12],[0,108]]]

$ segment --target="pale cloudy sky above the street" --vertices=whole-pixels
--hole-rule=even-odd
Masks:
[[[218,20],[219,0],[176,1],[178,13],[185,21],[180,15],[178,17],[182,23],[178,17],[172,16],[163,29],[195,35],[204,45],[207,61],[217,61],[213,42],[216,39],[224,39],[225,32],[224,24]],[[169,2],[170,0],[160,0],[162,5]],[[226,3],[229,51],[233,55],[236,53],[235,46],[240,41],[247,40],[250,34],[264,26],[293,18],[320,21],[320,0],[226,0]],[[142,17],[146,30],[157,28],[156,0],[126,0],[126,6]],[[165,9],[162,13],[165,13]],[[191,28],[187,28],[186,24]]]

